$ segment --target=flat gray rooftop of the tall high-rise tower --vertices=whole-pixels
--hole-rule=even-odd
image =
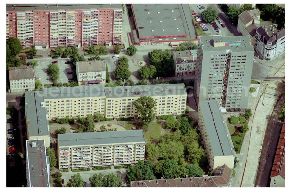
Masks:
[[[249,52],[254,48],[250,36],[200,36],[202,50],[204,52],[231,50],[231,52]],[[214,43],[224,43],[226,46],[217,46]],[[246,44],[246,45],[245,45]],[[237,48],[238,46],[238,48]]]

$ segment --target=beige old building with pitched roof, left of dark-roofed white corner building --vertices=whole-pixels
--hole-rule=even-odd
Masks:
[[[238,32],[242,36],[250,36],[252,45],[254,45],[254,38],[256,29],[260,27],[260,11],[253,9],[244,11],[239,15]]]

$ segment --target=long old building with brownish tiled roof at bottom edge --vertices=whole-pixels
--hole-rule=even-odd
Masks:
[[[131,181],[130,187],[229,187],[233,171],[226,165],[216,168],[214,176]]]

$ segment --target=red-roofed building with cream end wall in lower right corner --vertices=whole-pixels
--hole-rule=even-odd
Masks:
[[[277,151],[274,158],[270,187],[285,187],[285,120],[278,141]]]

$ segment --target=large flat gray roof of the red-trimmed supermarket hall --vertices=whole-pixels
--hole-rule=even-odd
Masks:
[[[180,39],[196,37],[189,4],[132,4],[132,9],[140,37],[178,35],[186,35]]]

